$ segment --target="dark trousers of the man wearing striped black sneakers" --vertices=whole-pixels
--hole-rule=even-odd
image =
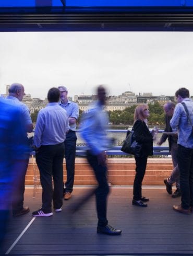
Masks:
[[[41,208],[44,213],[52,212],[52,200],[55,209],[61,208],[63,204],[64,148],[64,143],[41,146],[35,155],[40,170],[40,181],[42,185]]]

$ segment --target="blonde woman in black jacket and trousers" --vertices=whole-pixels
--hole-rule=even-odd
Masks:
[[[149,201],[141,194],[141,184],[146,172],[148,156],[153,155],[153,136],[148,129],[148,117],[150,111],[147,104],[139,104],[134,114],[134,134],[136,141],[142,145],[140,156],[135,156],[136,160],[136,176],[134,180],[134,197],[133,205],[147,207],[146,202]]]

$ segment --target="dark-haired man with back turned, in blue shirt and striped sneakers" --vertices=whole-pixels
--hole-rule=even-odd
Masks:
[[[62,211],[64,141],[68,129],[68,115],[59,107],[59,97],[60,92],[57,88],[49,90],[47,94],[49,104],[39,111],[35,126],[35,158],[42,185],[42,207],[32,213],[36,217],[53,215],[52,200],[55,212]]]

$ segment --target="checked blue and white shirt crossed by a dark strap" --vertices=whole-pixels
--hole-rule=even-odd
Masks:
[[[193,124],[193,101],[189,98],[185,98],[183,102],[186,104],[191,123]],[[178,141],[179,145],[187,148],[193,148],[193,136],[192,125],[188,120],[186,111],[182,103],[178,103],[174,109],[173,117],[170,121],[172,129],[178,129]]]

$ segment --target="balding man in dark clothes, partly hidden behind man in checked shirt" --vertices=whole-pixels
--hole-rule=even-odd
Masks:
[[[163,106],[164,112],[165,112],[165,130],[160,138],[160,141],[157,143],[159,146],[162,145],[163,142],[168,139],[169,143],[169,150],[172,155],[172,161],[173,161],[173,166],[174,169],[167,179],[164,179],[164,183],[166,185],[166,191],[168,194],[172,194],[172,185],[176,183],[176,191],[172,194],[172,197],[179,197],[181,196],[181,191],[180,191],[180,185],[179,185],[179,168],[177,165],[177,134],[170,135],[167,134],[168,132],[172,132],[172,127],[170,125],[170,120],[172,119],[172,116],[174,114],[174,109],[175,109],[175,103],[172,101],[168,101],[164,104]]]

